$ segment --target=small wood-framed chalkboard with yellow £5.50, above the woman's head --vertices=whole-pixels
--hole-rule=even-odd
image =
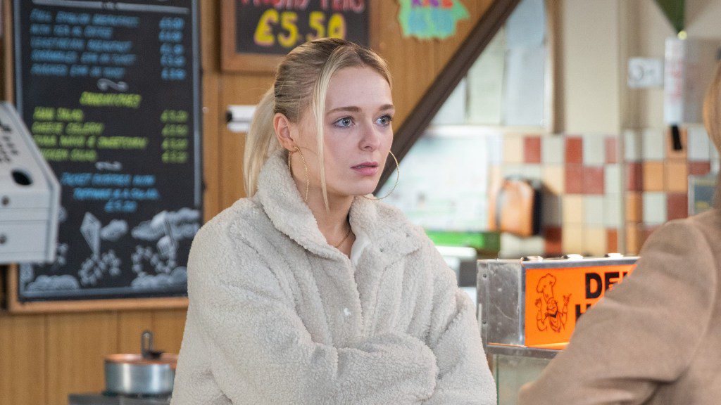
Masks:
[[[323,37],[368,46],[368,1],[223,0],[226,70],[272,71],[280,58],[269,56]]]

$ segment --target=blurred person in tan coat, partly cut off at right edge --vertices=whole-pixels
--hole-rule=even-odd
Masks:
[[[704,123],[721,152],[721,64]],[[721,404],[721,184],[715,208],[666,223],[640,256],[518,404]]]

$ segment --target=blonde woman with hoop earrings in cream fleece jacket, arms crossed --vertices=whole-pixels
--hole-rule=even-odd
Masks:
[[[472,301],[370,194],[393,115],[371,50],[315,40],[280,63],[246,141],[249,197],[193,241],[172,404],[495,404]]]

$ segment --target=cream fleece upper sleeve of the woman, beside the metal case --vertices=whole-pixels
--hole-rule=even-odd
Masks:
[[[424,405],[496,404],[495,383],[483,352],[473,301],[433,249],[435,281],[428,345],[438,363],[433,396]]]

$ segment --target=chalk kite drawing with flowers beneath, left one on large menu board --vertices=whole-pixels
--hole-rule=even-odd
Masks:
[[[117,223],[113,225],[111,222],[108,226],[110,227],[110,231],[106,231],[106,233],[112,233],[114,228],[122,228],[123,225]],[[111,276],[120,275],[121,261],[115,256],[115,251],[110,249],[108,252],[102,254],[100,252],[100,240],[102,238],[101,227],[102,223],[100,223],[94,215],[85,213],[83,223],[80,226],[80,233],[82,233],[88,246],[90,246],[92,256],[85,259],[78,272],[80,282],[83,285],[96,285],[97,282],[107,274]],[[127,224],[125,224],[125,227],[127,228]]]

